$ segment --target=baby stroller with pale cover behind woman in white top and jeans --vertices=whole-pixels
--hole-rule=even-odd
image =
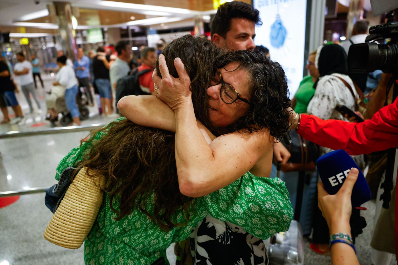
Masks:
[[[68,126],[73,122],[72,115],[70,114],[68,108],[66,107],[64,92],[60,91],[58,87],[53,87],[51,90],[51,94],[47,96],[47,108],[54,108],[58,113],[58,116],[53,118],[47,116],[47,120],[49,120],[52,124],[55,124],[57,120],[62,126]],[[79,95],[76,95],[76,103],[80,112],[80,120],[87,120],[88,114],[90,111],[88,108],[82,103],[82,98]]]

